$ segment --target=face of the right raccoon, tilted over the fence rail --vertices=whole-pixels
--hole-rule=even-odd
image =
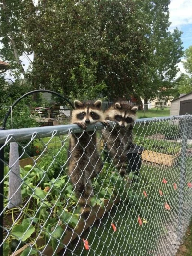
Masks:
[[[108,110],[108,118],[116,121],[121,128],[125,128],[130,126],[136,119],[136,111],[136,106],[132,106],[126,102],[116,102]]]

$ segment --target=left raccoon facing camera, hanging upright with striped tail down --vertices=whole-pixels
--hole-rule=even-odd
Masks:
[[[102,122],[104,120],[101,110],[101,101],[97,100],[81,102],[74,101],[75,110],[72,112],[72,124],[77,124],[86,129],[87,124]],[[88,218],[90,214],[90,198],[94,195],[91,179],[96,177],[102,170],[103,162],[97,150],[96,132],[81,132],[70,135],[69,143],[69,177],[75,188],[82,217]]]

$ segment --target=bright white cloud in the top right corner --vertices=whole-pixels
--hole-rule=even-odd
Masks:
[[[169,12],[170,29],[192,24],[192,0],[171,0]]]

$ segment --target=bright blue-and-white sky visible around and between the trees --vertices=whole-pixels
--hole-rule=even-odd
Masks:
[[[33,0],[37,4],[38,0]],[[183,32],[181,38],[183,41],[184,50],[192,45],[192,0],[171,0],[169,5],[170,12],[170,25],[169,30],[172,32],[176,27]],[[29,56],[33,60],[33,56]],[[184,61],[184,58],[182,59]],[[29,61],[25,56],[22,56],[21,61],[25,64],[24,69],[27,69]],[[180,73],[186,73],[183,67],[182,62],[178,64],[180,72],[177,76],[180,76]],[[7,72],[6,78],[10,78],[9,73]],[[12,78],[12,77],[11,77]]]

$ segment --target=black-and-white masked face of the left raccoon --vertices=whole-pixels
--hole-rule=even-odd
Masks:
[[[81,102],[79,100],[74,101],[75,110],[73,111],[73,120],[81,121],[85,124],[91,124],[99,122],[103,119],[101,108],[101,101],[97,100]]]

